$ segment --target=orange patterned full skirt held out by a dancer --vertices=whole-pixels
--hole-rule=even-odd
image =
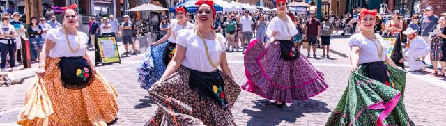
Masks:
[[[60,58],[48,58],[45,75],[26,90],[20,125],[107,125],[118,113],[114,87],[93,70],[91,84],[73,90],[62,86]]]

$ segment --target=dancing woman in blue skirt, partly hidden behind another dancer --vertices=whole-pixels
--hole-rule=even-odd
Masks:
[[[187,22],[187,10],[184,6],[175,8],[175,11],[178,20],[171,21],[166,36],[152,44],[151,51],[147,52],[141,65],[137,68],[138,82],[145,90],[151,88],[152,84],[161,78],[167,64],[174,56],[178,31],[195,27],[194,24]]]

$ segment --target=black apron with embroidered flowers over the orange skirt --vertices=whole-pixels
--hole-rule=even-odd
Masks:
[[[61,57],[62,86],[69,89],[82,89],[89,86],[91,66],[83,57]]]

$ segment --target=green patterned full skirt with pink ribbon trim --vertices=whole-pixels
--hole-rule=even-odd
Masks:
[[[387,66],[389,86],[365,77],[364,66],[353,72],[326,125],[415,125],[404,108],[406,73]]]

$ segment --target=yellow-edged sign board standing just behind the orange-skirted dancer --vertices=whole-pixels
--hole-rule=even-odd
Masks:
[[[118,45],[114,37],[98,37],[98,47],[102,63],[119,63]]]

